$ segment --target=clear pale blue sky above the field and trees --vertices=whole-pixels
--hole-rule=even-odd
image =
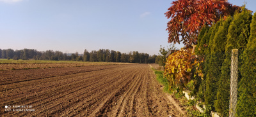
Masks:
[[[256,11],[255,0],[229,3]],[[0,49],[158,55],[168,46],[170,0],[0,0]],[[181,48],[184,45],[175,45]]]

